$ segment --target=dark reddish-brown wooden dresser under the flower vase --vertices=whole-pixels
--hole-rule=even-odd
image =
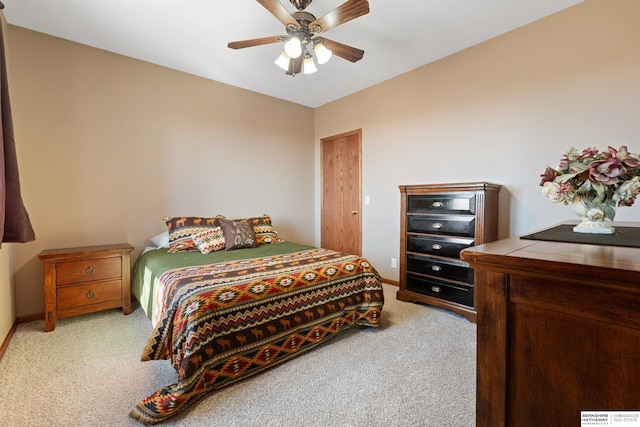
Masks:
[[[640,410],[639,248],[514,237],[461,257],[476,274],[477,426]]]

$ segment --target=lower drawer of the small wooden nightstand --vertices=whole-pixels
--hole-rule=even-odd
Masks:
[[[91,282],[82,285],[61,286],[56,291],[57,309],[84,307],[122,298],[122,281]]]

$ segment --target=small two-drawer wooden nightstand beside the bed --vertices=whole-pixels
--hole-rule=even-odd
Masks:
[[[131,313],[133,246],[115,244],[42,251],[45,331],[56,320],[109,308]]]

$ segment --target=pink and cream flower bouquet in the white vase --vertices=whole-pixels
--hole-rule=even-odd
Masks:
[[[640,194],[640,157],[626,146],[607,151],[571,147],[557,169],[549,166],[540,175],[542,192],[554,202],[582,203],[600,211],[592,219],[613,220],[615,208],[631,206]],[[597,218],[602,216],[603,218]]]

